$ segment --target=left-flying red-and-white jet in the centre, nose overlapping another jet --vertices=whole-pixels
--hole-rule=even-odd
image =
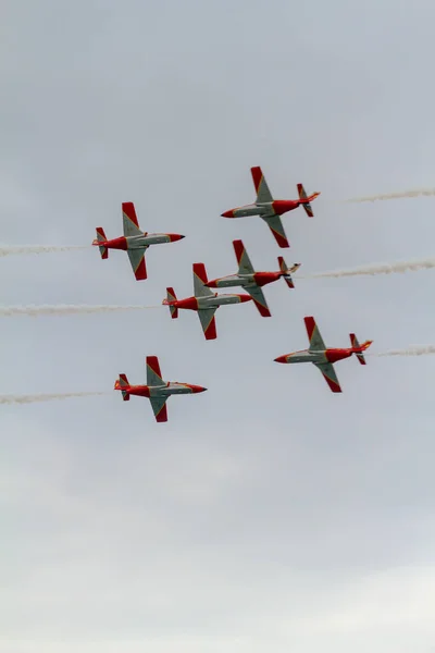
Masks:
[[[283,278],[288,287],[294,288],[295,284],[293,283],[291,272],[296,272],[296,270],[300,268],[300,263],[295,263],[291,268],[287,268],[284,258],[278,256],[281,269],[278,272],[256,272],[243,242],[233,241],[233,247],[238,262],[238,272],[236,274],[228,274],[228,276],[213,279],[213,281],[206,283],[206,286],[208,288],[241,286],[252,297],[260,315],[263,318],[270,318],[271,311],[269,310],[263,291],[261,289],[262,286]]]

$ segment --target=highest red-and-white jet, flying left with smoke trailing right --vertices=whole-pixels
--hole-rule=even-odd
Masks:
[[[259,165],[251,168],[253,185],[256,187],[257,198],[253,204],[236,209],[229,209],[221,213],[222,218],[245,218],[247,215],[260,215],[268,224],[279,247],[289,247],[287,236],[284,231],[281,215],[302,207],[309,218],[314,213],[311,208],[311,201],[319,197],[320,193],[313,193],[307,196],[302,184],[297,184],[299,199],[273,199],[269,186]]]

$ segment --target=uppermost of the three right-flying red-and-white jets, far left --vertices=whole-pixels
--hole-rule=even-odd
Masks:
[[[181,234],[150,234],[139,229],[133,201],[124,201],[122,205],[124,235],[119,238],[108,241],[102,226],[97,226],[97,238],[92,245],[100,249],[102,259],[109,258],[109,249],[122,249],[128,254],[129,262],[135,273],[136,281],[147,279],[147,267],[145,263],[145,252],[150,245],[160,243],[174,243],[185,236]]]

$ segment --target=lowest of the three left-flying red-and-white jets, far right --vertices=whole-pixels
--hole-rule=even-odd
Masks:
[[[303,318],[303,320],[306,323],[308,340],[310,341],[309,348],[301,352],[278,356],[275,358],[275,362],[312,362],[322,372],[331,390],[333,392],[341,392],[341,387],[338,383],[333,364],[337,362],[338,360],[343,360],[344,358],[349,358],[352,354],[355,354],[359,362],[361,365],[365,365],[365,358],[362,352],[370,347],[373,341],[365,341],[362,343],[362,345],[360,345],[355,333],[350,333],[349,337],[351,347],[341,349],[327,348],[323,342],[314,318],[308,317]]]

